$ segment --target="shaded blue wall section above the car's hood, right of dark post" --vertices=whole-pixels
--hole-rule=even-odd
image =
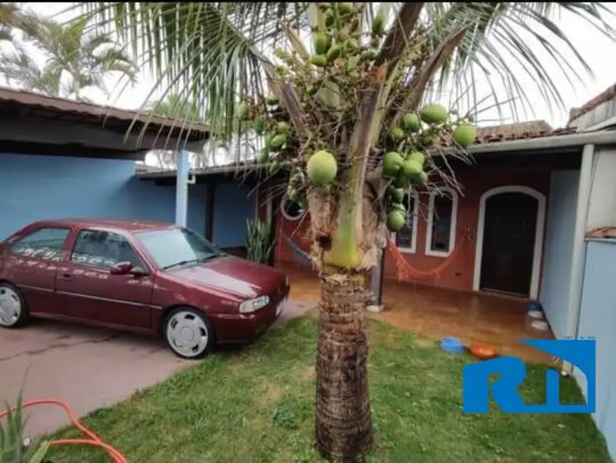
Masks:
[[[246,220],[254,219],[255,193],[240,182],[216,185],[212,241],[221,248],[245,246]]]

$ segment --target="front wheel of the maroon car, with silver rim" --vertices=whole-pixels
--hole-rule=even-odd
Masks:
[[[203,358],[214,345],[214,331],[207,317],[192,308],[174,309],[163,329],[167,345],[181,358]]]

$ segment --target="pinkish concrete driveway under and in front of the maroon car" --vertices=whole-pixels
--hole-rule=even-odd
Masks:
[[[311,306],[289,301],[276,324]],[[0,330],[0,410],[5,400],[14,404],[24,378],[24,400],[63,400],[83,416],[195,363],[177,358],[153,338],[36,320],[18,330]],[[70,423],[54,405],[38,405],[28,415],[31,437]]]

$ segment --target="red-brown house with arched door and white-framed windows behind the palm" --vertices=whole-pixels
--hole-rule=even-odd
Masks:
[[[441,189],[443,194],[408,197],[412,214],[392,240],[417,275],[409,283],[537,299],[557,338],[575,335],[584,234],[612,222],[616,226],[616,130],[605,125],[580,131],[575,124],[592,117],[593,105],[603,111],[605,97],[591,103],[574,111],[576,118],[562,129],[541,120],[481,128],[470,149],[475,162],[451,160],[461,192]],[[275,225],[276,261],[292,263],[286,239],[309,252],[310,218],[283,194],[283,176],[268,178],[261,171],[254,162],[243,162],[191,174],[208,188],[241,175],[255,192],[253,215]],[[176,182],[174,172],[138,177]],[[218,188],[229,188],[224,185]],[[216,211],[209,211],[214,215],[209,224],[223,220]],[[383,269],[386,279],[399,276],[389,252]]]

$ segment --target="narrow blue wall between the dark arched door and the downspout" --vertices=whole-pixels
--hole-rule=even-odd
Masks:
[[[578,170],[562,170],[552,172],[550,180],[539,299],[557,338],[562,338],[567,329],[579,177]]]

